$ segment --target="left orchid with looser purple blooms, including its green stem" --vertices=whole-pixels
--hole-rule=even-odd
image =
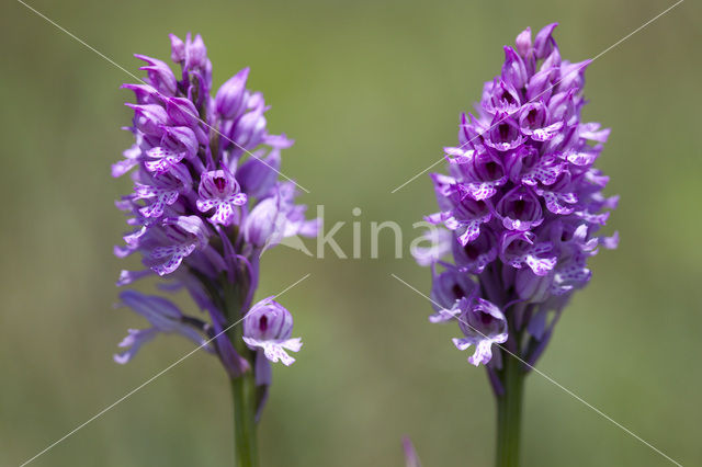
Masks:
[[[159,276],[162,291],[186,291],[202,315],[184,314],[162,297],[123,292],[122,304],[150,327],[129,330],[114,358],[129,362],[160,334],[182,335],[216,355],[231,379],[239,414],[237,459],[251,465],[252,426],[271,385],[269,360],[290,365],[294,358],[287,351],[302,345],[290,337],[292,315],[272,298],[249,310],[259,257],[280,238],[316,236],[318,223],[306,220],[305,206],[295,204],[294,183],[279,180],[281,151],[293,141],[269,134],[269,106],[261,93],[247,89],[249,68],[213,98],[212,62],[202,37],[171,35],[170,43],[180,73],[137,55],[147,77],[123,87],[136,98],[127,104],[134,111],[127,129],[135,143],[112,174],[129,173],[134,190],[116,203],[131,231],[114,252],[139,254],[146,269],[123,271],[117,284]]]

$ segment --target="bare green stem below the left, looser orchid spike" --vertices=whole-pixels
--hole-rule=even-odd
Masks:
[[[234,400],[235,465],[256,467],[259,460],[253,372],[246,372],[238,378],[231,378],[231,398]]]

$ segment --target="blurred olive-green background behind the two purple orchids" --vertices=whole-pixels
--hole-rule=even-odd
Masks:
[[[136,72],[167,59],[167,34],[199,32],[218,86],[245,66],[273,105],[269,128],[296,145],[283,171],[325,205],[327,224],[406,227],[435,210],[427,175],[390,191],[456,140],[460,112],[499,72],[501,46],[559,21],[571,60],[592,57],[669,1],[169,1],[31,5]],[[702,464],[700,3],[687,1],[588,70],[586,119],[613,129],[599,167],[622,195],[621,247],[593,263],[540,369],[683,465]],[[110,178],[129,123],[123,71],[12,0],[0,7],[0,465],[19,465],[192,346],[159,339],[126,366],[114,310],[125,230]],[[354,218],[351,210],[362,209]],[[338,236],[351,251],[351,226]],[[314,247],[314,242],[309,243]],[[482,369],[430,326],[430,274],[394,259],[263,258],[259,297],[281,300],[305,342],[275,367],[261,426],[263,466],[400,466],[409,435],[427,467],[487,466],[495,414]],[[188,301],[183,301],[188,304]],[[528,381],[524,466],[665,466],[661,456],[539,375]],[[228,384],[197,353],[35,460],[38,466],[226,466]]]

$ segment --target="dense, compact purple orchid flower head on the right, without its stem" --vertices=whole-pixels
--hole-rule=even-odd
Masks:
[[[593,167],[610,130],[580,122],[589,61],[561,59],[555,26],[505,47],[501,73],[476,114],[461,116],[458,146],[445,148],[449,175],[431,174],[441,210],[427,217],[431,248],[414,254],[434,271],[430,321],[458,321],[454,343],[475,348],[476,366],[499,368],[491,348],[506,342],[533,364],[590,280],[587,259],[618,242],[598,236],[618,202],[602,195],[609,179]],[[449,252],[453,262],[441,261]]]

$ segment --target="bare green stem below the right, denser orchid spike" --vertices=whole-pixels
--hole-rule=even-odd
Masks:
[[[521,362],[503,355],[505,395],[497,398],[497,467],[519,466],[519,438],[522,418],[524,376]]]

